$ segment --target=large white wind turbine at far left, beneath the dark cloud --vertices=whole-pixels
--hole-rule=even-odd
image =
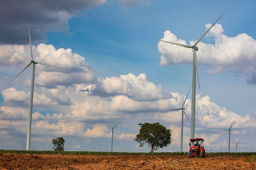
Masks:
[[[28,26],[29,29],[29,26]],[[34,93],[34,79],[35,79],[35,67],[36,64],[43,64],[45,66],[51,66],[54,68],[58,68],[56,66],[52,66],[50,64],[44,63],[44,62],[40,62],[37,60],[34,60],[33,58],[33,52],[32,52],[32,46],[31,46],[31,38],[30,38],[30,32],[29,32],[29,44],[30,44],[30,57],[31,57],[31,61],[29,62],[29,64],[27,64],[27,66],[18,74],[16,75],[16,77],[18,77],[23,71],[25,71],[27,68],[29,68],[29,66],[33,63],[33,68],[32,68],[32,77],[31,77],[31,87],[30,87],[30,99],[29,99],[29,119],[28,119],[28,126],[27,126],[27,150],[29,150],[30,148],[30,136],[31,136],[31,119],[32,119],[32,107],[33,107],[33,93]],[[59,68],[61,69],[61,68]],[[11,82],[16,79],[16,77],[14,77]],[[6,88],[11,82],[9,82],[4,88]]]

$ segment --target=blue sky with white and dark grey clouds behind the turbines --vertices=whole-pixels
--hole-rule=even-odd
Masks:
[[[0,2],[4,3],[4,2]],[[256,2],[237,0],[76,0],[0,7],[0,149],[25,150],[31,67],[4,88],[30,61],[27,25],[36,60],[31,150],[52,150],[64,137],[65,150],[149,152],[134,141],[139,123],[159,122],[172,130],[172,144],[160,152],[180,151],[179,108],[192,82],[190,44],[216,19],[198,43],[195,137],[206,151],[227,152],[226,130],[238,151],[255,152]],[[19,8],[17,8],[19,7]],[[193,42],[191,42],[193,44]],[[191,92],[185,104],[191,117]],[[184,117],[183,151],[190,138]],[[231,137],[231,152],[236,142]]]

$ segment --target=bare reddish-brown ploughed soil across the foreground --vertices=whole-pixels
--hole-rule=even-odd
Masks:
[[[0,170],[256,170],[248,156],[49,155],[0,153]]]

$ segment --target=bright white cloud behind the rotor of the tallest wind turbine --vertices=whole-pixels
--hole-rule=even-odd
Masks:
[[[209,28],[211,24],[206,24]],[[256,41],[246,33],[228,37],[223,34],[222,25],[216,24],[207,34],[213,37],[215,44],[199,42],[197,44],[198,64],[209,66],[208,73],[230,72],[236,74],[250,75],[248,83],[256,84]],[[186,44],[185,40],[177,39],[171,31],[165,31],[161,40]],[[193,45],[194,40],[189,44]],[[160,65],[191,64],[192,50],[166,42],[158,43],[158,50],[162,54]]]

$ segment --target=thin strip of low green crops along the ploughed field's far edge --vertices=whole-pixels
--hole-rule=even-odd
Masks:
[[[65,154],[65,155],[187,155],[187,152],[92,152],[92,151],[53,151],[53,150],[0,150],[0,153],[19,154]],[[211,152],[209,156],[255,156],[256,152]]]

